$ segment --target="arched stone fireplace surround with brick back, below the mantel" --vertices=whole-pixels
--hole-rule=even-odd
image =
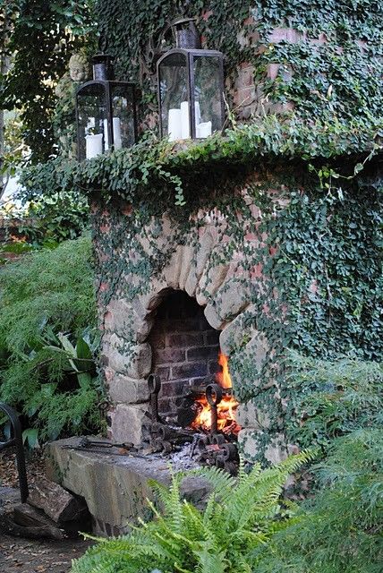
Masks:
[[[283,409],[280,349],[266,325],[272,321],[282,331],[285,308],[264,270],[277,246],[268,245],[260,227],[262,211],[249,192],[253,185],[247,180],[232,191],[242,211],[201,206],[186,226],[172,209],[138,222],[129,203],[115,199],[106,206],[93,198],[110,439],[138,448],[148,440],[150,373],[161,381],[159,413],[172,420],[186,388],[214,381],[221,353],[240,403],[236,418],[244,455],[256,459],[261,443],[269,461],[285,457],[281,416],[257,406],[267,394],[275,411]],[[283,190],[270,190],[268,200],[276,210],[283,207]]]

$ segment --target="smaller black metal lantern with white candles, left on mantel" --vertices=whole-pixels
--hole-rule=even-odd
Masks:
[[[93,80],[76,92],[79,161],[131,147],[137,138],[134,84],[113,79],[111,57],[94,56]]]

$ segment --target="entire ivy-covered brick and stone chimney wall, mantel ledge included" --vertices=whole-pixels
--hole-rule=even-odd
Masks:
[[[285,376],[290,350],[381,360],[382,3],[98,0],[101,46],[140,82],[154,132],[156,54],[178,14],[197,15],[204,45],[226,54],[231,129],[189,143],[143,133],[131,150],[50,160],[22,184],[90,197],[115,438],[144,423],[152,305],[194,285],[226,333],[243,449],[276,459],[300,391]]]

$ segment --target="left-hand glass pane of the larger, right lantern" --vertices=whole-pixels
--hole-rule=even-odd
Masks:
[[[190,137],[186,56],[165,57],[159,65],[158,76],[162,133],[168,135],[170,141],[186,139]]]

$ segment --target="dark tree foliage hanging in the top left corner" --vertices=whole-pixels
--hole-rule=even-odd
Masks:
[[[52,113],[55,82],[66,72],[73,50],[94,33],[93,3],[19,0],[1,6],[8,13],[8,41],[13,66],[0,78],[0,105],[21,110],[23,140],[31,160],[44,161],[54,152]],[[0,48],[1,48],[0,47]]]

